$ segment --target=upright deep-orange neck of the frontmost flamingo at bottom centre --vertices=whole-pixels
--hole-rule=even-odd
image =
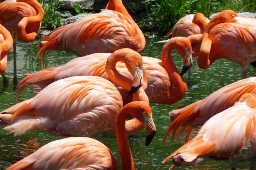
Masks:
[[[116,118],[116,139],[122,160],[122,170],[134,170],[134,161],[127,140],[125,121],[129,113],[122,109]],[[131,121],[131,120],[130,120]]]

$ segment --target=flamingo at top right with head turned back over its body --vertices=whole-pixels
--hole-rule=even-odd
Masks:
[[[255,47],[256,19],[238,17],[234,11],[225,10],[204,30],[198,66],[207,69],[215,60],[225,58],[240,65],[245,79],[248,65],[256,61]]]

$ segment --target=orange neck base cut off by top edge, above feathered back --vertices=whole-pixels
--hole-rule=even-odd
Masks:
[[[125,6],[123,5],[122,0],[109,0],[109,3],[105,9],[120,12],[132,20],[131,15],[128,13]]]

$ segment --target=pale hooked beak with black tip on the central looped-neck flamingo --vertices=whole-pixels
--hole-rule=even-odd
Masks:
[[[139,88],[143,85],[143,71],[142,68],[137,67],[134,73],[134,79],[132,81],[131,90],[128,93],[128,96],[133,95]]]

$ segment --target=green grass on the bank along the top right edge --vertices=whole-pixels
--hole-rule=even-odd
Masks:
[[[154,20],[154,31],[169,32],[177,21],[186,14],[203,13],[209,17],[212,13],[232,9],[237,12],[255,12],[256,0],[144,0],[148,19]],[[140,21],[141,28],[146,27]]]

